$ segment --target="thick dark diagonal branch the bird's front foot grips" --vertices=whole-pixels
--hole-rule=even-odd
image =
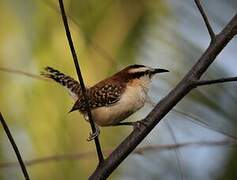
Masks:
[[[176,85],[176,87],[165,96],[156,107],[143,120],[146,126],[135,128],[133,132],[105,159],[103,166],[97,166],[90,176],[93,179],[106,179],[115,168],[137,147],[137,145],[150,133],[150,131],[161,121],[161,119],[192,89],[202,74],[216,59],[227,43],[237,33],[237,14],[231,19],[226,27],[215,36],[209,47],[199,58],[197,63]]]

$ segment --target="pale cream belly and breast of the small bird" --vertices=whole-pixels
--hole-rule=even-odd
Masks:
[[[114,105],[93,109],[93,119],[100,126],[117,124],[143,107],[146,96],[147,93],[142,88],[128,87]]]

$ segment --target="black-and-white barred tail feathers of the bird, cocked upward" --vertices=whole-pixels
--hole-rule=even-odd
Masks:
[[[41,75],[49,79],[53,79],[57,83],[63,85],[69,90],[70,95],[74,99],[78,99],[79,94],[81,94],[81,88],[80,88],[80,84],[75,79],[61,73],[60,71],[52,67],[46,67],[44,70],[45,71],[42,72]]]

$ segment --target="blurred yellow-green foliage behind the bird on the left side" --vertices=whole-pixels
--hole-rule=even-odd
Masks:
[[[135,61],[154,15],[166,13],[160,1],[65,0],[83,77],[87,85]],[[76,77],[57,1],[0,1],[0,66],[39,74],[52,66]],[[94,150],[83,117],[68,114],[73,104],[55,83],[0,72],[0,109],[24,159]],[[129,129],[127,129],[129,131]],[[1,161],[15,160],[1,131]],[[115,147],[127,134],[103,129],[103,147]],[[86,179],[96,157],[42,163],[29,168],[32,179]],[[115,174],[116,175],[116,174]],[[1,171],[2,179],[21,179],[19,168]]]

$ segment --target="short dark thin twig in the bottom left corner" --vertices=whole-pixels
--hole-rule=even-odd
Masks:
[[[17,145],[16,145],[16,143],[15,143],[15,141],[14,141],[12,135],[11,135],[11,132],[10,132],[10,130],[9,130],[8,126],[7,126],[7,123],[5,122],[1,112],[0,112],[0,121],[1,121],[1,124],[2,124],[2,127],[3,127],[4,131],[5,131],[5,133],[6,133],[7,137],[8,137],[11,145],[12,145],[12,148],[13,148],[15,154],[16,154],[18,163],[21,166],[21,170],[22,170],[22,173],[23,173],[25,179],[26,180],[30,180],[30,176],[29,176],[29,174],[27,172],[27,169],[25,167],[25,164],[24,164],[24,162],[23,162],[23,160],[21,158],[21,154],[20,154],[20,152],[19,152],[19,150],[17,148]]]

